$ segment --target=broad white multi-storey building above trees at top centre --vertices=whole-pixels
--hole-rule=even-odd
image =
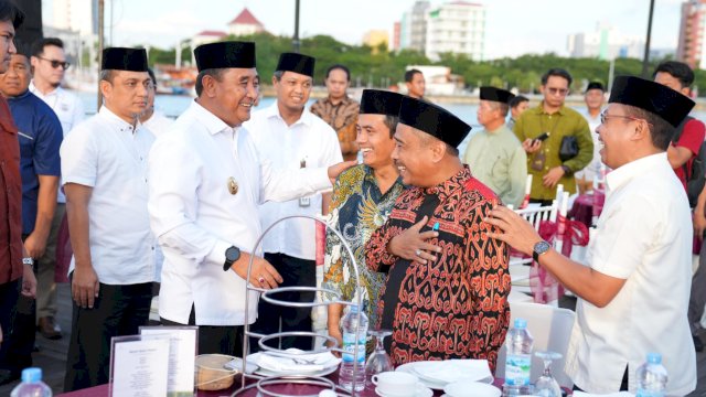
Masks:
[[[439,54],[464,54],[483,60],[485,8],[467,1],[451,1],[427,13],[425,54],[437,61]]]

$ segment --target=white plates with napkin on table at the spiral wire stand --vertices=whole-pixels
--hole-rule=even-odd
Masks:
[[[323,376],[335,372],[341,363],[341,358],[336,358],[330,352],[297,354],[301,351],[288,351],[292,353],[288,357],[267,352],[254,353],[247,356],[247,362],[259,366],[255,374],[263,376]]]

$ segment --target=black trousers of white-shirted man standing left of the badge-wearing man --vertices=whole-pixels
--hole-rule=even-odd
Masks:
[[[100,283],[93,309],[84,309],[73,302],[65,391],[109,382],[110,339],[138,334],[139,328],[147,325],[151,301],[152,283],[145,282],[128,286]]]

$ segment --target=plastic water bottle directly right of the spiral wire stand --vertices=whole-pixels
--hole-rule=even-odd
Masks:
[[[343,329],[343,353],[341,369],[339,371],[339,385],[346,390],[353,389],[355,380],[355,391],[365,388],[365,340],[367,337],[367,316],[365,311],[360,311],[360,329],[357,340],[355,337],[355,325],[359,321],[359,307],[352,305],[351,310],[343,316],[341,328]],[[357,371],[353,373],[353,354],[357,347]]]

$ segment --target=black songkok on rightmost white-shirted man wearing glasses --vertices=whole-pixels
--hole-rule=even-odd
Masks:
[[[694,101],[659,83],[633,76],[619,76],[610,90],[609,104],[622,104],[644,109],[676,127],[694,107]]]

